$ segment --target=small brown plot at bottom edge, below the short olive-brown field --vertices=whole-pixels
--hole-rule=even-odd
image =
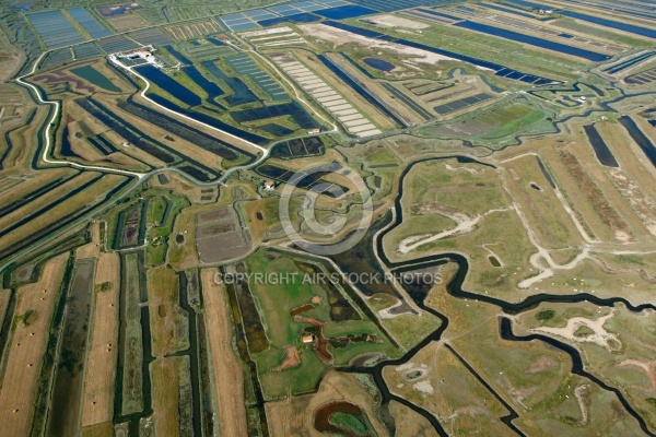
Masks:
[[[159,358],[151,363],[153,422],[159,437],[177,437],[179,426],[179,368],[185,357]]]

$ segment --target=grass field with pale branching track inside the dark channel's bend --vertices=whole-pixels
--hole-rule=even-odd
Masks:
[[[447,251],[466,253],[470,263],[467,290],[511,300],[519,297],[509,293],[529,274],[527,261],[535,249],[497,170],[454,160],[426,162],[411,169],[403,189],[403,221],[384,239],[388,256],[400,260]]]

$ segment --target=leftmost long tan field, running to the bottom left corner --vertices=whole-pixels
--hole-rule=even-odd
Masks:
[[[67,260],[68,253],[51,259],[44,267],[38,282],[17,291],[16,316],[35,310],[36,319],[28,327],[17,321],[11,343],[8,344],[9,354],[0,391],[0,436],[30,434],[50,316]]]

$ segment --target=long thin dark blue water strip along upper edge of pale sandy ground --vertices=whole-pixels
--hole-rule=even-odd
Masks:
[[[402,44],[402,45],[406,45],[408,47],[420,48],[422,50],[432,51],[432,52],[437,54],[437,55],[443,55],[443,56],[447,56],[449,58],[459,59],[461,61],[469,62],[469,63],[475,64],[475,66],[479,66],[479,67],[483,67],[483,68],[487,68],[487,69],[490,69],[490,70],[494,70],[496,72],[495,73],[496,75],[508,76],[511,79],[516,79],[516,80],[519,80],[519,81],[526,82],[526,83],[534,83],[536,85],[543,85],[543,84],[547,84],[547,83],[558,82],[558,81],[555,81],[553,79],[540,78],[540,76],[537,76],[537,75],[531,75],[531,74],[523,73],[520,71],[511,70],[508,68],[505,68],[502,64],[490,62],[490,61],[485,61],[485,60],[478,59],[478,58],[473,58],[471,56],[456,54],[454,51],[444,50],[444,49],[441,49],[441,48],[437,48],[437,47],[432,47],[432,46],[429,46],[429,45],[422,44],[422,43],[415,43],[415,42],[411,42],[411,40],[408,40],[408,39],[396,38],[396,37],[390,36],[390,35],[385,35],[385,34],[382,34],[379,32],[374,32],[374,31],[370,31],[370,29],[366,29],[366,28],[352,26],[352,25],[345,24],[345,23],[340,23],[340,22],[328,20],[328,21],[325,21],[324,24],[332,26],[332,27],[341,28],[341,29],[344,29],[344,31],[349,31],[349,32],[352,32],[352,33],[358,34],[358,35],[367,36],[370,38],[377,38],[377,39],[386,40],[386,42],[389,42],[389,43]],[[503,71],[503,74],[502,74],[502,71]],[[508,72],[509,72],[509,74],[508,74]]]

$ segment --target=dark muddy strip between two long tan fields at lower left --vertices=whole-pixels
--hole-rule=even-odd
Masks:
[[[94,271],[95,260],[85,259],[75,264],[66,306],[48,436],[74,436],[80,427]]]

